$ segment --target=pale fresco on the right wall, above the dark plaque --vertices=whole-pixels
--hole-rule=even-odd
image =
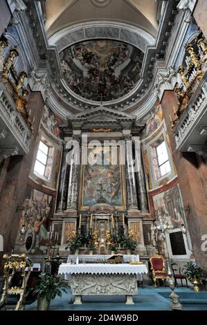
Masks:
[[[160,214],[165,215],[165,222],[173,225],[174,228],[180,228],[182,225],[185,225],[178,184],[154,195],[153,204],[156,217]]]

